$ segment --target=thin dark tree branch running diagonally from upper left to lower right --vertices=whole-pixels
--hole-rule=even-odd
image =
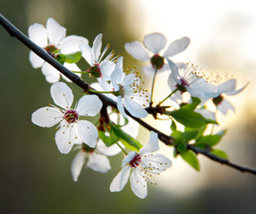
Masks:
[[[50,56],[43,48],[39,47],[35,43],[33,43],[30,38],[26,37],[19,29],[13,26],[13,24],[10,21],[7,21],[4,16],[0,13],[0,24],[4,27],[4,29],[11,35],[11,37],[16,37],[18,40],[21,41],[24,45],[30,48],[31,51],[34,53],[37,53],[39,57],[41,57],[43,60],[51,64],[53,67],[55,67],[56,70],[59,70],[66,78],[69,78],[73,83],[75,83],[77,86],[80,86],[84,91],[88,92],[89,84],[87,84],[85,81],[83,81],[78,75],[74,74],[72,71],[66,69],[61,63],[55,61],[55,59]],[[104,103],[105,106],[112,106],[114,108],[117,108],[115,101],[108,98],[106,95],[102,94],[95,94],[90,93],[92,95],[98,95],[98,98]],[[172,136],[166,136],[164,133],[158,131],[158,129],[151,127],[148,123],[143,121],[142,119],[133,117],[126,109],[124,109],[127,115],[129,115],[132,119],[136,120],[138,123],[141,124],[144,128],[147,128],[149,131],[154,131],[158,133],[158,138],[166,145],[171,145],[174,141],[174,138]],[[149,110],[148,110],[149,111]],[[149,111],[149,113],[152,114],[152,112]],[[206,150],[202,150],[198,147],[195,147],[191,144],[187,144],[187,148],[192,150],[196,153],[201,153],[202,155],[208,157],[210,160],[217,161],[222,164],[226,164],[227,166],[238,169],[243,172],[249,172],[254,175],[256,175],[256,169],[243,167],[241,165],[232,163],[228,160],[221,159],[218,156],[215,156],[214,154],[211,154],[207,152]]]

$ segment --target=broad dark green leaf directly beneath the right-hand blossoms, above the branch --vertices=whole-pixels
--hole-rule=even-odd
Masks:
[[[205,119],[200,113],[194,112],[190,109],[181,108],[179,110],[170,112],[170,115],[185,127],[201,128],[206,124]]]

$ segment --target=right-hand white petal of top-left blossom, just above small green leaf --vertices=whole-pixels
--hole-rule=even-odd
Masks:
[[[69,54],[80,52],[79,44],[88,45],[88,39],[86,37],[68,36],[61,40],[59,48],[61,53]]]

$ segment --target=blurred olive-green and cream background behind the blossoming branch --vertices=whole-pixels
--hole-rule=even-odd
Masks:
[[[175,62],[191,61],[214,75],[227,73],[237,78],[238,87],[251,82],[243,93],[229,99],[236,113],[219,116],[221,128],[228,131],[217,148],[226,151],[231,161],[255,167],[253,1],[0,0],[0,8],[26,35],[31,24],[46,25],[48,17],[63,25],[67,35],[87,37],[90,45],[103,33],[104,46],[109,43],[115,53],[124,55],[124,66],[131,64],[138,70],[141,63],[125,53],[126,42],[142,41],[145,34],[156,31],[166,35],[168,44],[191,37],[191,45],[175,56]],[[196,172],[180,158],[174,159],[164,144],[162,152],[174,166],[156,179],[157,186],[149,185],[144,200],[132,193],[129,184],[121,193],[108,190],[120,170],[122,155],[110,158],[112,169],[107,174],[83,169],[74,183],[70,166],[75,152],[58,152],[54,128],[38,128],[30,121],[31,113],[52,99],[41,71],[30,65],[29,52],[0,27],[0,213],[256,213],[255,176],[201,156],[201,172]],[[156,100],[167,95],[167,77],[167,72],[157,77]],[[80,93],[76,86],[73,90]],[[139,136],[142,144],[148,136]]]

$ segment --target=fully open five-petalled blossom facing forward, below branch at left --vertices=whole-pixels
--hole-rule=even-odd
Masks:
[[[54,105],[38,109],[32,114],[32,122],[39,127],[50,128],[59,124],[55,134],[55,143],[62,153],[71,151],[73,144],[84,142],[95,147],[98,138],[97,128],[80,116],[95,116],[102,107],[97,95],[84,95],[73,109],[73,92],[63,82],[51,86],[51,96]]]

